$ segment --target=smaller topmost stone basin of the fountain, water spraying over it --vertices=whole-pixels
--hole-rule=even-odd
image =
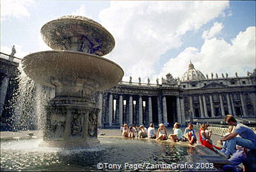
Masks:
[[[52,49],[104,56],[115,47],[115,39],[103,26],[92,19],[75,15],[47,22],[41,29],[41,35]]]

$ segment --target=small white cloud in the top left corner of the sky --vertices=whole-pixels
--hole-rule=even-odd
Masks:
[[[22,17],[29,18],[28,6],[33,3],[33,0],[1,0],[1,20],[7,17],[15,17],[17,19]]]

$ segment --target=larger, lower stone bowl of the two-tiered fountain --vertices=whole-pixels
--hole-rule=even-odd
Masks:
[[[113,61],[74,51],[35,52],[22,59],[22,68],[35,82],[53,88],[58,79],[61,85],[69,81],[72,84],[80,82],[81,88],[90,85],[92,91],[106,90],[118,84],[124,76],[124,70]]]

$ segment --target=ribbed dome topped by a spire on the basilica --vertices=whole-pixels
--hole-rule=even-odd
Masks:
[[[200,80],[205,79],[205,76],[199,70],[194,68],[194,65],[189,63],[188,70],[182,75],[181,82],[191,81],[191,80]]]

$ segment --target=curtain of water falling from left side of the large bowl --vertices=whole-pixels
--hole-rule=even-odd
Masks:
[[[13,115],[9,123],[13,130],[40,130],[45,119],[45,107],[51,98],[52,89],[36,84],[18,67],[19,89],[12,100]]]

